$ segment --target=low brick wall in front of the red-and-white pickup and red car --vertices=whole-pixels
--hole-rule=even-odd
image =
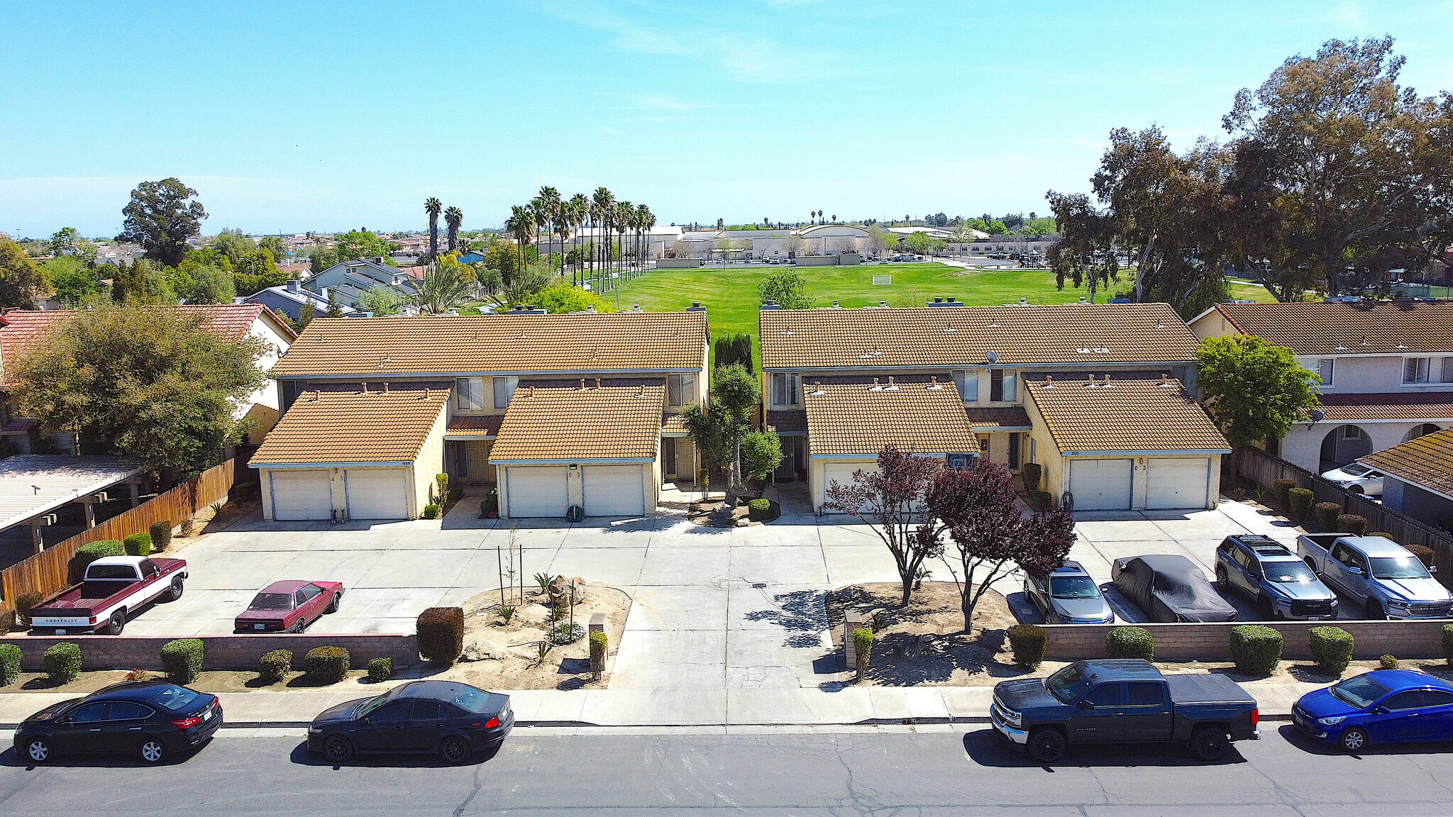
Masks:
[[[23,635],[0,643],[20,647],[20,666],[29,672],[44,672],[42,656],[61,641],[81,645],[81,667],[103,669],[161,669],[161,645],[171,638],[141,638],[115,635]],[[257,659],[273,650],[292,650],[294,667],[302,669],[302,656],[314,647],[344,647],[353,669],[366,669],[369,659],[394,659],[394,667],[420,663],[418,644],[413,635],[203,635],[202,669],[256,670]]]

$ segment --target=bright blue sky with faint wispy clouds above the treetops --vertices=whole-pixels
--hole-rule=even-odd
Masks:
[[[206,233],[498,225],[541,185],[663,224],[1040,211],[1110,128],[1219,134],[1242,86],[1391,33],[1453,89],[1453,3],[4,3],[0,231],[113,234],[177,176]]]

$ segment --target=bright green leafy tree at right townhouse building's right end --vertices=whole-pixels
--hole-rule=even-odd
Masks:
[[[1207,337],[1196,350],[1202,401],[1231,445],[1282,439],[1316,406],[1316,372],[1260,337]]]

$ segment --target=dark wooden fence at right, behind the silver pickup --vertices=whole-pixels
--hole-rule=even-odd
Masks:
[[[1276,480],[1296,480],[1298,486],[1312,491],[1312,502],[1334,502],[1343,506],[1345,513],[1366,518],[1369,531],[1389,534],[1399,545],[1431,548],[1434,561],[1443,566],[1438,579],[1453,587],[1453,535],[1385,507],[1363,494],[1344,490],[1337,483],[1324,480],[1286,459],[1271,456],[1260,448],[1238,448],[1231,459],[1235,474],[1244,480],[1251,480],[1264,488],[1271,488],[1271,483]]]

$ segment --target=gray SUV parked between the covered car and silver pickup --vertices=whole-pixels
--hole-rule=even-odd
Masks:
[[[1216,548],[1216,584],[1255,599],[1261,618],[1337,618],[1337,593],[1270,536],[1226,536]]]

